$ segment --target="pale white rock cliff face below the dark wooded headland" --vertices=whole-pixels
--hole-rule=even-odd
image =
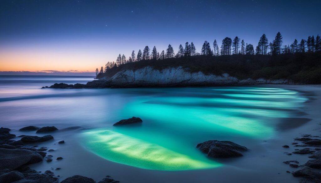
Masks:
[[[205,75],[202,72],[190,73],[182,67],[169,67],[163,70],[144,67],[137,70],[122,70],[107,80],[117,86],[215,86],[252,84],[290,84],[288,80],[245,79],[239,80],[225,73],[221,76]]]

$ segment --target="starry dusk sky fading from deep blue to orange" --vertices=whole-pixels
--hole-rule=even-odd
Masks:
[[[0,71],[94,71],[144,46],[238,36],[256,46],[280,31],[284,44],[321,34],[321,1],[0,2]]]

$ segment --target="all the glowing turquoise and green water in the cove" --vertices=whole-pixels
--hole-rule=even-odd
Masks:
[[[128,91],[138,95],[127,96]],[[84,146],[113,162],[164,171],[221,166],[199,152],[197,143],[217,139],[244,145],[272,137],[280,119],[293,117],[307,100],[296,91],[263,87],[118,92],[128,100],[118,111],[118,119],[136,116],[143,119],[143,124],[106,124],[105,129],[86,131]]]

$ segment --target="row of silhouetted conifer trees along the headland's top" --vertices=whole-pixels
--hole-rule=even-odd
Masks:
[[[160,53],[156,50],[154,46],[152,52],[150,53],[150,48],[145,46],[143,52],[141,50],[138,51],[137,56],[135,51],[132,51],[131,56],[126,59],[126,56],[123,54],[119,54],[116,62],[107,62],[105,68],[101,66],[100,71],[98,68],[96,69],[96,76],[99,73],[106,72],[108,69],[113,67],[120,66],[122,64],[130,63],[130,62],[139,62],[141,60],[164,60],[167,58],[179,58],[186,56],[196,56],[196,55],[207,55],[207,56],[220,56],[220,55],[232,55],[232,54],[261,54],[261,55],[279,55],[279,54],[294,54],[294,53],[304,53],[304,52],[319,52],[321,51],[321,39],[320,36],[308,36],[308,39],[301,39],[298,42],[297,39],[294,39],[291,45],[283,46],[283,37],[280,32],[278,32],[275,38],[269,42],[266,35],[263,34],[260,37],[260,40],[254,50],[254,46],[252,44],[247,44],[242,39],[240,41],[239,37],[235,37],[233,40],[230,37],[225,37],[222,40],[221,49],[219,48],[216,39],[213,42],[213,49],[208,41],[204,41],[201,52],[196,52],[196,48],[191,42],[185,43],[183,47],[181,44],[178,47],[177,54],[174,53],[173,47],[169,44],[166,52],[162,50]]]

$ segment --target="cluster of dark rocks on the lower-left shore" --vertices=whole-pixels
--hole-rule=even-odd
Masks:
[[[20,129],[21,131],[36,131],[36,133],[51,132],[58,130],[56,127],[35,127],[28,126]],[[20,140],[12,140],[16,137],[10,133],[8,128],[0,128],[0,182],[1,183],[59,183],[59,180],[53,172],[47,170],[44,173],[32,170],[28,167],[29,164],[43,161],[46,158],[47,162],[52,161],[52,155],[47,155],[48,148],[37,145],[26,146],[25,143],[37,143],[54,139],[51,135],[43,137],[38,136],[19,136]],[[65,141],[59,141],[58,144],[64,144]],[[54,151],[49,149],[48,152]],[[62,160],[62,157],[57,157],[56,160]],[[56,168],[60,170],[61,168]],[[107,176],[99,183],[117,183],[111,177]],[[75,175],[66,178],[62,183],[96,183],[93,179]]]

